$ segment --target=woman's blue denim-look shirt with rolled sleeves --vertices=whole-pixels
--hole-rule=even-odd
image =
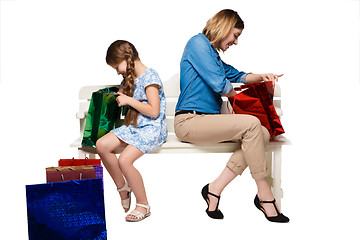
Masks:
[[[247,73],[224,63],[208,38],[199,33],[186,44],[180,62],[180,96],[176,110],[220,113],[221,96],[232,82],[245,82]]]

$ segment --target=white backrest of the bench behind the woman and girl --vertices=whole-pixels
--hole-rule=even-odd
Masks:
[[[234,87],[238,87],[241,84],[234,83]],[[89,109],[89,104],[91,100],[91,95],[93,92],[105,88],[105,87],[114,87],[116,85],[98,85],[98,86],[85,86],[80,89],[79,92],[79,108],[80,112],[86,113]],[[180,74],[175,74],[173,77],[163,82],[165,96],[166,96],[166,118],[167,118],[167,128],[169,134],[174,134],[174,116],[175,116],[175,107],[177,104],[177,99],[180,94]],[[118,87],[118,86],[116,86]],[[274,93],[274,106],[278,112],[279,117],[282,115],[281,112],[281,90],[278,85],[275,87]],[[229,108],[231,106],[229,105]],[[231,109],[230,109],[231,111]],[[223,97],[223,105],[221,108],[222,114],[228,114],[229,110],[227,107],[227,98]]]

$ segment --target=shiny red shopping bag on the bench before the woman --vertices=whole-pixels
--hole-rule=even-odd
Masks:
[[[240,93],[229,98],[236,114],[249,114],[257,117],[261,125],[269,130],[270,137],[284,133],[279,116],[273,105],[274,86],[272,82],[242,85]]]

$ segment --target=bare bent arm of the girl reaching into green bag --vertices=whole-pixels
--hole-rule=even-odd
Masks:
[[[160,113],[160,97],[158,85],[151,84],[147,86],[145,88],[145,92],[148,103],[139,102],[138,100],[129,97],[123,93],[119,93],[116,101],[118,102],[119,107],[129,105],[145,116],[157,118]]]

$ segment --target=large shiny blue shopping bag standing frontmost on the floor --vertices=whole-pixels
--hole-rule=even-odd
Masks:
[[[107,239],[101,178],[26,186],[30,240]]]

